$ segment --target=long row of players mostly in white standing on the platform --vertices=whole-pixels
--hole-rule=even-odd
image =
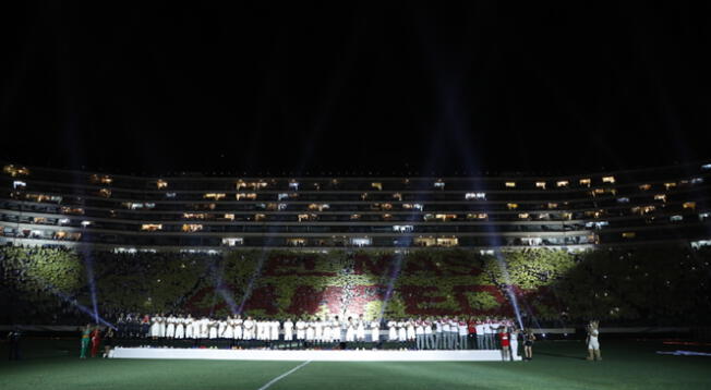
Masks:
[[[278,320],[228,316],[225,319],[193,318],[188,315],[153,317],[121,316],[117,322],[119,337],[149,337],[152,339],[229,339],[257,341],[313,342],[414,342],[418,350],[426,349],[496,349],[496,333],[507,330],[517,333],[514,322],[504,318],[437,317],[388,320],[386,332],[381,321],[366,321],[363,315],[340,320],[338,316]]]

